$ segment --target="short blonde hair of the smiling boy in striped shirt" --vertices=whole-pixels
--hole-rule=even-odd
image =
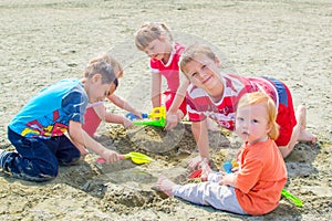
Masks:
[[[179,69],[183,73],[185,66],[191,62],[196,56],[199,55],[206,55],[207,57],[211,59],[211,60],[216,60],[216,54],[212,52],[212,50],[209,46],[206,45],[201,45],[201,44],[194,44],[188,46],[181,54],[180,59],[179,59]],[[185,73],[185,75],[187,76],[187,74]],[[187,76],[188,77],[188,76]]]

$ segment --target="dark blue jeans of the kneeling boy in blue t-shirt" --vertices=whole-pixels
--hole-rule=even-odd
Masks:
[[[80,151],[65,136],[41,139],[23,137],[8,127],[8,138],[18,152],[3,156],[3,170],[30,181],[46,181],[58,176],[59,164],[79,161]]]

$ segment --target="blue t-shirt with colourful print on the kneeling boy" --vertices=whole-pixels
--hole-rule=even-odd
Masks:
[[[66,133],[70,120],[83,124],[87,103],[80,81],[62,80],[33,96],[9,127],[23,137],[61,136]]]

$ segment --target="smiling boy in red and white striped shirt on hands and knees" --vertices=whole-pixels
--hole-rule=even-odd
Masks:
[[[271,77],[243,77],[219,72],[219,60],[204,45],[191,45],[183,53],[180,70],[191,82],[187,90],[188,116],[197,143],[199,156],[189,160],[195,169],[203,158],[209,158],[206,118],[212,118],[221,127],[234,130],[235,110],[240,97],[250,92],[268,94],[277,105],[277,123],[280,136],[276,140],[283,157],[297,141],[315,141],[315,136],[305,130],[305,107],[293,110],[289,88]]]

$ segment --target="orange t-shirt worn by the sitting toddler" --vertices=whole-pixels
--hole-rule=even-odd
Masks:
[[[276,143],[269,139],[246,144],[239,161],[235,190],[241,208],[255,215],[274,210],[287,181],[286,165]]]

